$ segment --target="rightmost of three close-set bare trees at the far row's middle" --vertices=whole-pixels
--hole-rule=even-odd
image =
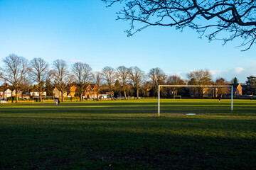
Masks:
[[[139,67],[130,67],[129,68],[129,79],[132,80],[132,85],[136,89],[137,99],[139,99],[139,89],[142,86],[145,78],[145,73],[139,69]]]

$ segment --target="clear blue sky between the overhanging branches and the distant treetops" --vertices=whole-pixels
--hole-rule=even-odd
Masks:
[[[209,69],[213,79],[240,83],[256,76],[256,46],[246,52],[233,41],[208,43],[195,30],[146,28],[131,38],[124,30],[128,21],[116,21],[121,6],[106,8],[100,0],[0,0],[0,66],[9,54],[42,57],[52,64],[86,62],[93,70],[105,66],[137,66],[144,72],[154,67],[167,75]]]

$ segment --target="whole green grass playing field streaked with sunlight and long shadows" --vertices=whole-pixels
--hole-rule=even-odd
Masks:
[[[250,100],[9,103],[0,127],[0,169],[256,169]]]

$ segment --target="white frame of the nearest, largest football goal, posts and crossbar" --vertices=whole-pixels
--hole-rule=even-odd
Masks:
[[[160,88],[161,87],[231,87],[231,113],[233,112],[233,86],[230,85],[206,85],[206,86],[201,86],[201,85],[159,85],[158,87],[158,115],[160,117]]]

